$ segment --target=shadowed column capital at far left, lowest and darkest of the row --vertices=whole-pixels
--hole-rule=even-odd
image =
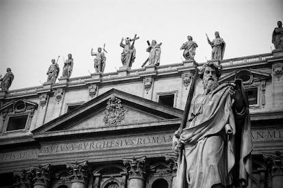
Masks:
[[[14,187],[31,188],[33,187],[33,173],[31,170],[15,170],[14,171]]]

